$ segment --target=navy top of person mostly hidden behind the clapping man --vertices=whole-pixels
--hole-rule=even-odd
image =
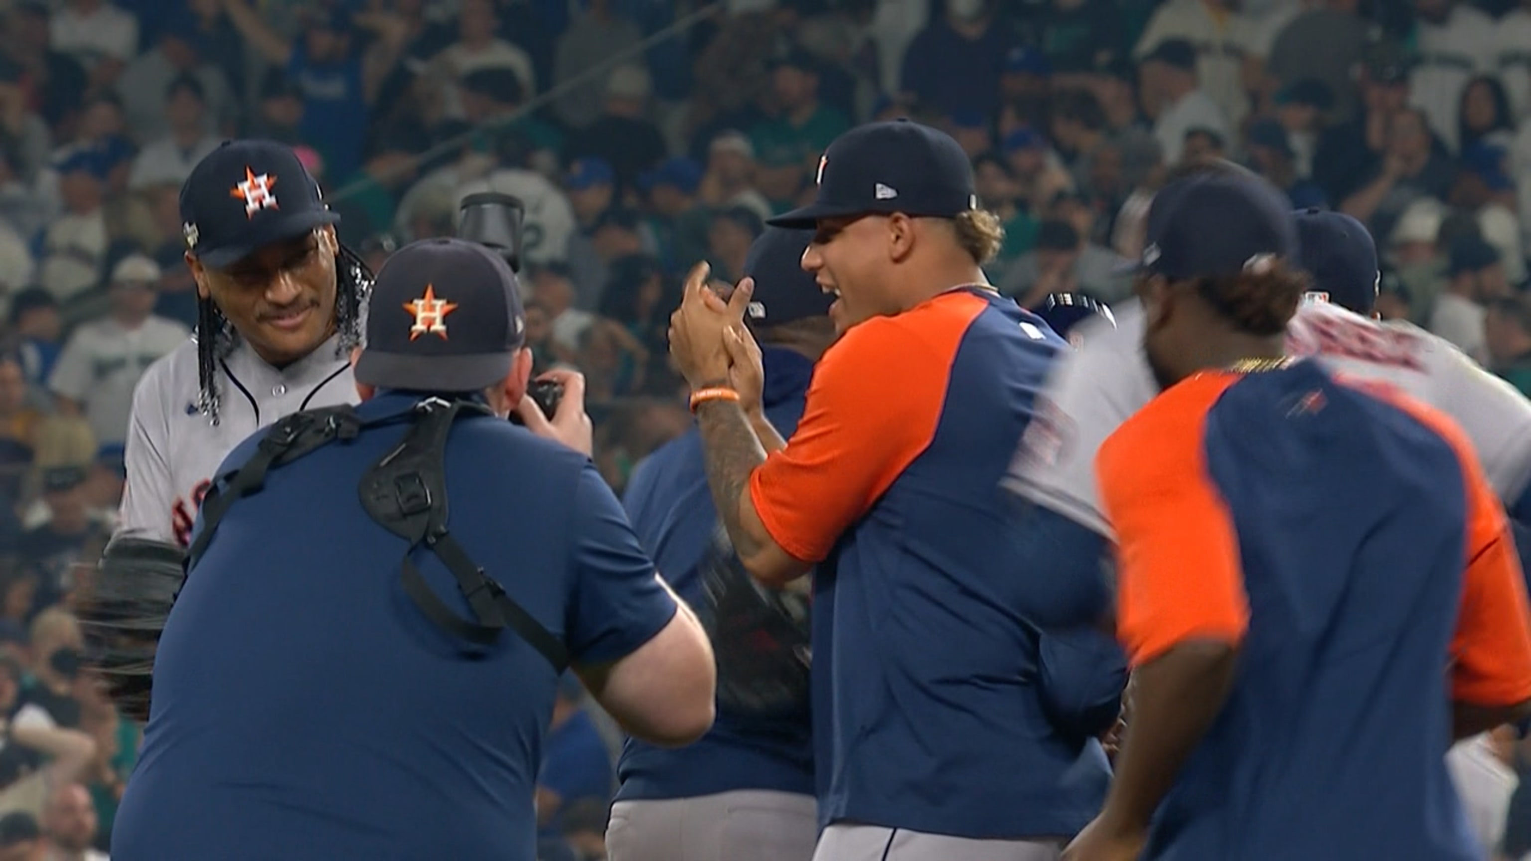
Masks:
[[[766,418],[790,435],[802,417],[813,363],[779,348],[764,348]],[[697,576],[718,510],[707,489],[701,437],[692,429],[643,461],[623,498],[632,527],[654,553],[660,573],[677,594],[701,601]],[[617,800],[694,798],[739,789],[770,789],[813,795],[810,717],[749,717],[720,709],[712,731],[687,748],[655,748],[628,740],[617,764]]]

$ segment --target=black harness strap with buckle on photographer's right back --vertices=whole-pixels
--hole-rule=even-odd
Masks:
[[[554,669],[563,673],[570,662],[563,642],[505,594],[447,530],[447,435],[464,409],[476,414],[487,411],[478,404],[439,398],[424,400],[416,409],[419,415],[403,441],[367,470],[360,487],[361,507],[367,515],[409,542],[400,565],[404,594],[439,628],[472,643],[493,643],[501,631],[511,628],[542,653]],[[473,619],[458,616],[432,591],[410,559],[419,545],[435,553],[452,571]]]

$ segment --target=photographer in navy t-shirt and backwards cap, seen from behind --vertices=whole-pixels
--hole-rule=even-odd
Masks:
[[[505,259],[409,245],[366,320],[361,406],[246,440],[204,503],[116,861],[531,861],[565,665],[629,735],[712,723],[712,650],[589,463],[583,380],[550,375],[551,418],[527,395]]]

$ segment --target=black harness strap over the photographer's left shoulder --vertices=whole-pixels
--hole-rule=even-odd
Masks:
[[[187,571],[207,552],[217,524],[234,503],[265,487],[271,467],[292,463],[334,440],[354,440],[361,427],[361,418],[348,404],[294,412],[273,424],[256,446],[256,453],[239,469],[220,475],[208,489],[202,499],[202,532],[187,552]]]

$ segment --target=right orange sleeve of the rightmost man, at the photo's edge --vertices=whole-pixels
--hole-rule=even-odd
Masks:
[[[1503,504],[1451,418],[1399,394],[1389,400],[1451,443],[1467,480],[1467,570],[1451,640],[1451,699],[1522,703],[1531,699],[1531,605]]]

